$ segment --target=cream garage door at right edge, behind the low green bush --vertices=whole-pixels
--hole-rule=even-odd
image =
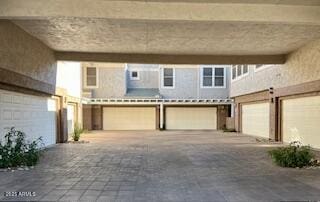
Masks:
[[[282,137],[320,148],[320,96],[282,101]]]

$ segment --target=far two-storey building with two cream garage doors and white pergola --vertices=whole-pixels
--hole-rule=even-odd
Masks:
[[[227,127],[228,65],[82,63],[84,127],[90,130],[216,130]]]

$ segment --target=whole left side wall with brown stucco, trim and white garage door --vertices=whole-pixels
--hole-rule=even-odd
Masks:
[[[46,146],[65,141],[62,101],[51,98],[56,88],[54,52],[7,20],[0,20],[0,44],[0,88],[8,90],[0,96],[8,98],[0,104],[1,135],[4,128],[16,127],[28,139],[42,136]]]

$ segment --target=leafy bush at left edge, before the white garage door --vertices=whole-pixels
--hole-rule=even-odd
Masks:
[[[42,137],[31,143],[25,138],[25,133],[14,127],[5,135],[4,142],[0,141],[0,168],[33,166],[38,162]]]

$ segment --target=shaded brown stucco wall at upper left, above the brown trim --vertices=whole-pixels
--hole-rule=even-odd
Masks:
[[[0,68],[51,85],[56,83],[53,51],[7,20],[0,20]]]

